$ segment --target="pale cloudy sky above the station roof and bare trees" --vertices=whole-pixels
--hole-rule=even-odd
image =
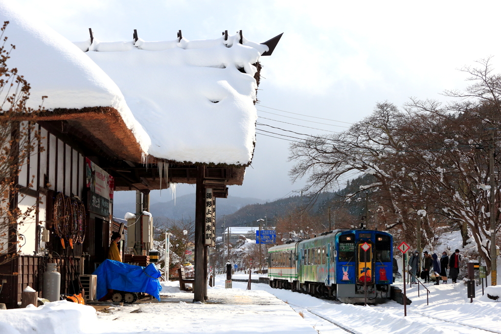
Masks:
[[[188,40],[213,39],[224,30],[242,30],[248,40],[258,43],[284,33],[273,55],[261,60],[264,78],[258,92],[258,115],[329,131],[342,130],[339,126],[348,124],[265,107],[353,123],[369,115],[380,101],[401,106],[411,96],[443,99],[438,93],[465,86],[466,75],[458,69],[474,65],[475,60],[494,56],[493,65],[501,71],[501,2],[496,1],[17,3],[71,41],[88,39],[88,28],[101,41],[129,41],[134,29],[146,41],[174,40],[178,30]],[[322,133],[272,120],[259,122],[301,133]],[[289,180],[288,144],[258,135],[252,167],[246,170],[243,186],[229,188],[230,195],[276,199],[300,189],[302,183]],[[193,186],[178,185],[178,195],[189,192],[194,192]],[[134,201],[133,193],[128,193],[117,193],[117,198]],[[162,191],[158,198],[155,192],[152,200],[166,201],[170,199],[167,195],[168,191]]]

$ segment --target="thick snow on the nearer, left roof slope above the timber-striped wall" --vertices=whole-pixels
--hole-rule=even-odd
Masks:
[[[113,107],[146,151],[149,136],[113,80],[66,38],[35,18],[25,18],[13,6],[0,0],[0,20],[10,22],[4,33],[7,46],[16,46],[7,65],[17,68],[32,88],[28,106],[38,108],[42,96],[48,96],[44,107],[49,110]]]

